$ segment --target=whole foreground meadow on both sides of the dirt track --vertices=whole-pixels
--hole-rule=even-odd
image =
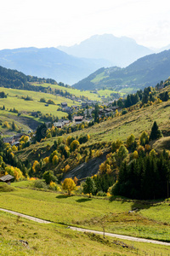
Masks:
[[[0,207],[48,219],[54,224],[36,224],[0,212],[0,255],[144,255],[144,252],[154,255],[155,252],[160,253],[155,255],[161,256],[162,253],[167,256],[170,253],[170,247],[133,241],[123,241],[127,247],[122,247],[114,244],[116,239],[103,239],[65,229],[67,225],[77,225],[103,230],[102,222],[105,221],[105,231],[167,240],[170,218],[165,213],[169,201],[155,202],[152,206],[141,201],[68,197],[26,188],[28,183],[13,183],[14,191],[1,192]],[[134,206],[140,207],[139,212],[127,213]],[[164,223],[159,218],[163,218]],[[23,247],[20,239],[28,241],[30,248]]]

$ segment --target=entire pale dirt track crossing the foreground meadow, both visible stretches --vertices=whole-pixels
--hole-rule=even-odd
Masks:
[[[22,214],[20,212],[14,212],[14,211],[10,211],[10,210],[3,209],[3,208],[0,208],[0,211],[8,212],[8,213],[14,214],[16,216],[20,216],[22,218],[28,218],[37,223],[42,223],[42,224],[52,224],[53,223],[48,220],[44,220],[41,218],[35,218],[35,217],[29,216],[26,214]],[[104,232],[96,231],[96,230],[87,230],[87,229],[82,229],[82,228],[77,228],[77,227],[72,227],[72,226],[68,226],[68,228],[71,230],[74,230],[74,231],[79,231],[79,232],[89,232],[89,233],[94,233],[94,234],[101,235],[101,236],[104,235]],[[105,236],[111,236],[111,237],[115,237],[115,238],[119,238],[119,239],[129,240],[129,241],[140,241],[140,242],[159,244],[162,246],[170,246],[170,242],[156,241],[156,240],[144,239],[144,238],[139,238],[139,237],[134,237],[134,236],[123,236],[123,235],[117,235],[117,234],[112,234],[112,233],[107,233],[107,232],[105,232]]]

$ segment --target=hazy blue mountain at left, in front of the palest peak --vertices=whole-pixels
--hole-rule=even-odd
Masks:
[[[80,59],[55,48],[0,50],[0,65],[27,75],[73,84],[109,61]]]

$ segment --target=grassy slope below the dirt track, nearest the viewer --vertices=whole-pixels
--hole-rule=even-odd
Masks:
[[[113,244],[115,239],[105,241],[99,236],[65,229],[59,224],[36,224],[24,218],[17,219],[8,213],[0,212],[0,255],[112,255],[126,256],[148,253],[163,253],[167,256],[168,247],[126,242],[128,248]],[[20,240],[28,241],[29,248],[22,246]],[[119,240],[120,241],[120,240]]]

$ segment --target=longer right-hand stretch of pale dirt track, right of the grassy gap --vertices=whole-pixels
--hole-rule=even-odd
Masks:
[[[97,235],[102,235],[102,236],[104,235],[103,232],[96,231],[96,230],[86,230],[86,229],[80,229],[80,228],[71,227],[71,226],[68,228],[70,228],[71,230],[80,231],[80,232],[90,232],[90,233],[94,233]],[[129,241],[140,241],[140,242],[159,244],[159,245],[163,245],[163,246],[170,246],[170,242],[156,241],[156,240],[138,238],[138,237],[133,237],[133,236],[122,236],[122,235],[117,235],[117,234],[112,234],[112,233],[107,233],[107,232],[105,232],[105,236],[111,236],[111,237],[115,237],[115,238],[119,238],[119,239],[129,240]]]

